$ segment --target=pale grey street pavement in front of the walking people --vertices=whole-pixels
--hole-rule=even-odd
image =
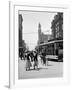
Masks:
[[[18,63],[18,78],[29,79],[29,78],[51,78],[51,77],[62,77],[63,76],[63,62],[52,62],[48,61],[48,65],[41,67],[38,70],[33,70],[31,67],[30,71],[25,70],[24,60],[19,60]]]

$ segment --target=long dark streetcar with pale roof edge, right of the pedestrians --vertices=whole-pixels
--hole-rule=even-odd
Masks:
[[[39,52],[44,52],[48,60],[63,62],[63,39],[49,40],[39,44]]]

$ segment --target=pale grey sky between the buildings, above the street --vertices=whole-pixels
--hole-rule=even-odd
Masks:
[[[38,41],[38,24],[41,24],[41,30],[45,34],[51,34],[51,22],[56,12],[38,12],[38,11],[19,11],[22,14],[23,22],[23,40],[33,50]]]

